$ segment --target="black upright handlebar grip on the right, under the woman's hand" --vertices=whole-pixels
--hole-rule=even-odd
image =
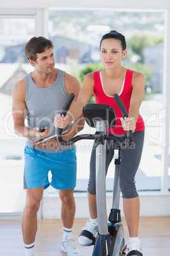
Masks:
[[[125,108],[124,104],[122,103],[120,97],[117,94],[114,94],[114,99],[122,112],[123,118],[124,119],[128,118],[128,112],[126,111],[126,108]],[[132,131],[126,131],[126,136],[127,136],[127,148],[129,148],[131,146],[131,144],[133,143]]]

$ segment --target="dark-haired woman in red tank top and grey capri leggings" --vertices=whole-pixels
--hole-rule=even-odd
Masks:
[[[56,115],[55,127],[64,128],[69,122],[82,114],[91,95],[94,93],[96,103],[108,104],[115,110],[117,117],[114,129],[107,129],[112,134],[122,135],[126,139],[126,131],[133,132],[133,149],[121,149],[120,186],[123,197],[124,215],[129,230],[128,256],[142,256],[140,240],[138,239],[138,225],[140,217],[140,199],[136,190],[134,177],[140,164],[145,125],[140,116],[140,105],[144,96],[145,76],[142,73],[131,71],[121,66],[121,60],[126,57],[126,40],[117,31],[111,31],[101,38],[100,56],[105,67],[101,71],[89,73],[84,78],[82,89],[77,101],[69,112],[62,118]],[[129,118],[122,118],[121,112],[114,101],[114,94],[119,94]],[[107,168],[114,157],[112,147],[107,148]],[[95,149],[91,153],[90,176],[88,184],[88,202],[90,218],[79,236],[79,244],[88,246],[98,231],[96,212],[96,185],[95,185]],[[86,232],[88,231],[88,232]]]

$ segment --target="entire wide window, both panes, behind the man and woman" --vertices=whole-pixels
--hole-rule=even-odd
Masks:
[[[41,18],[37,18],[36,11],[30,11],[30,15],[29,11],[20,10],[19,15],[13,14],[15,11],[12,10],[11,15],[6,16],[4,13],[0,15],[0,213],[20,212],[25,203],[25,192],[22,187],[25,139],[16,137],[13,131],[11,89],[14,83],[32,68],[25,60],[25,43],[34,34],[38,36],[47,34],[47,31],[44,31],[46,22],[43,20],[43,15],[40,14]],[[35,25],[35,20],[38,25]],[[125,12],[104,9],[49,10],[48,31],[49,39],[55,46],[56,67],[71,73],[81,82],[80,71],[89,64],[93,69],[100,69],[98,45],[101,36],[111,29],[122,32],[127,39],[128,55],[122,64],[145,73],[147,77],[145,99],[141,104],[146,136],[143,156],[136,176],[138,190],[160,190],[160,176],[163,172],[162,151],[166,146],[163,143],[166,110],[163,105],[162,87],[164,12]],[[87,125],[84,131],[93,132]],[[78,173],[75,188],[77,191],[85,192],[87,189],[92,143],[91,141],[77,143]],[[166,153],[168,159],[168,152]],[[110,164],[108,170],[107,190],[112,190],[113,167],[114,162]],[[51,187],[48,192],[56,193]]]

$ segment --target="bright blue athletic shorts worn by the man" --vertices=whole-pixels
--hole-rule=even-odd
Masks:
[[[23,188],[48,188],[51,185],[56,189],[70,189],[76,185],[77,157],[76,148],[61,153],[44,153],[25,146],[25,167]],[[48,173],[51,171],[51,182]]]

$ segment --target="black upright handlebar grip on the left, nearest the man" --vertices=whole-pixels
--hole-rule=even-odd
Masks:
[[[68,97],[66,103],[65,103],[64,106],[63,106],[62,113],[61,113],[62,117],[65,117],[65,115],[66,115],[66,113],[67,113],[67,110],[69,110],[70,104],[71,104],[72,101],[74,100],[74,97],[75,97],[75,94],[72,92],[72,93],[69,95],[69,97]],[[58,139],[58,141],[59,141],[61,144],[62,144],[62,143],[66,144],[66,141],[64,141],[64,140],[62,139],[62,131],[63,131],[63,129],[57,128],[57,130],[56,130],[56,138]]]

